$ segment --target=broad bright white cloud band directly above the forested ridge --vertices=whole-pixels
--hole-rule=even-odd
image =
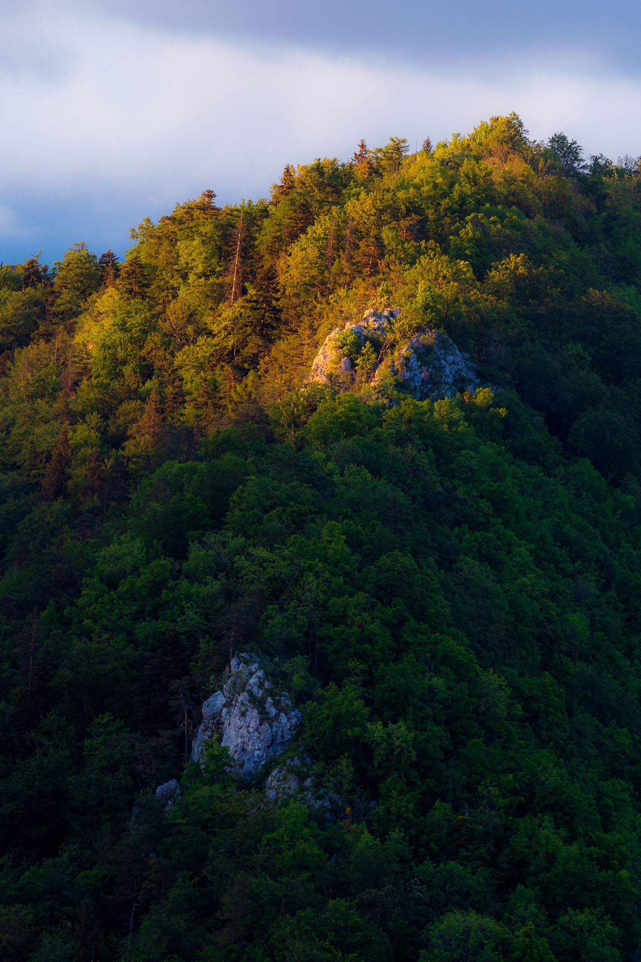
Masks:
[[[540,51],[430,70],[60,13],[16,16],[5,38],[0,201],[40,236],[60,237],[66,208],[65,244],[103,224],[105,245],[122,247],[126,227],[206,187],[223,201],[265,195],[285,163],[347,158],[360,137],[440,139],[510,110],[536,137],[563,129],[589,152],[641,152],[641,80],[576,54],[563,68]]]

